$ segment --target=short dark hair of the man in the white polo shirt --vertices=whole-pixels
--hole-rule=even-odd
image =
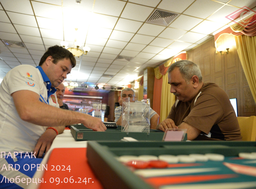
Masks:
[[[76,59],[74,57],[74,55],[67,49],[60,47],[58,45],[49,47],[47,49],[47,51],[45,52],[45,54],[43,54],[40,62],[39,62],[39,66],[42,66],[43,63],[46,61],[46,59],[52,56],[53,58],[53,63],[57,63],[58,61],[62,60],[62,59],[70,59],[70,62],[72,64],[72,68],[74,68],[76,66]]]

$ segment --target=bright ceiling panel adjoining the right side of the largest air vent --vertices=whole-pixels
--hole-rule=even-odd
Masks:
[[[169,25],[169,27],[188,31],[199,24],[201,21],[203,21],[201,18],[195,18],[181,14],[176,20],[173,21],[173,23]]]

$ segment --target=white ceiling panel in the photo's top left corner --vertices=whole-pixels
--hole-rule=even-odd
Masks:
[[[12,2],[10,3],[9,0],[1,0],[1,4],[6,11],[34,15],[32,7],[30,5],[30,1],[12,0]]]

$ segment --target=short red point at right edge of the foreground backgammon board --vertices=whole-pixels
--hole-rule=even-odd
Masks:
[[[256,167],[247,166],[247,165],[239,165],[223,162],[223,165],[230,168],[232,171],[244,175],[256,176]]]

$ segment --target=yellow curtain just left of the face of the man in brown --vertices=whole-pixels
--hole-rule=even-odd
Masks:
[[[171,86],[168,84],[168,73],[163,76],[162,94],[161,94],[161,114],[160,122],[166,119],[171,107],[175,103],[175,95],[170,93]]]

